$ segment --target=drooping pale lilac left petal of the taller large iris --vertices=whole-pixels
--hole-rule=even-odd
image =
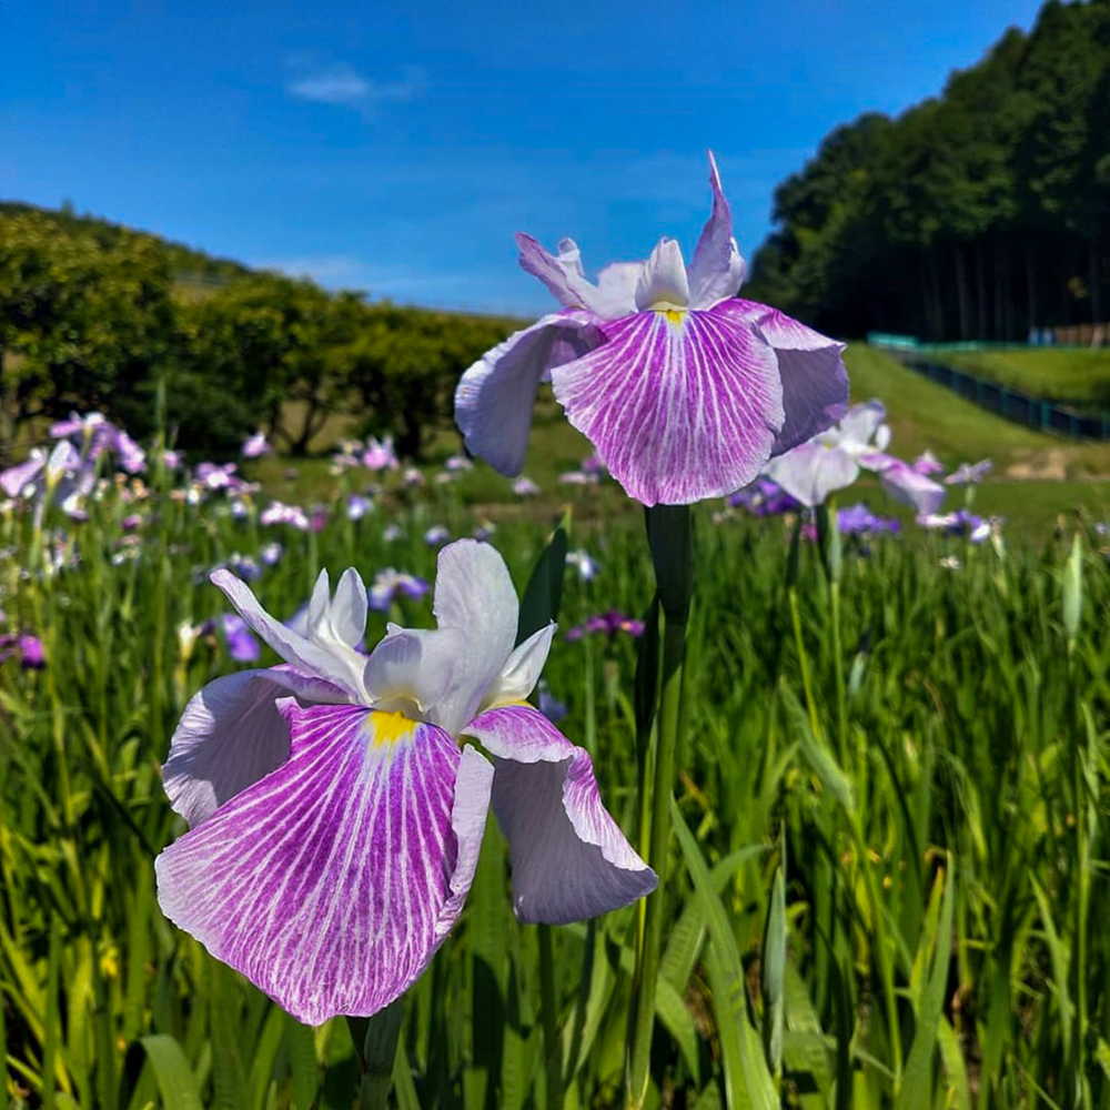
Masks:
[[[556,313],[487,351],[455,391],[455,421],[467,450],[502,474],[519,474],[541,381],[602,342],[585,313]]]

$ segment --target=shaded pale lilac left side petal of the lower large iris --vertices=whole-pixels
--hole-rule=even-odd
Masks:
[[[291,693],[306,703],[345,699],[339,687],[289,667],[225,675],[193,695],[162,765],[170,805],[190,826],[285,761],[289,725],[275,702]]]

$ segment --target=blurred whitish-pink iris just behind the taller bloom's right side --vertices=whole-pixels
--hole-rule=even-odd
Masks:
[[[934,513],[945,488],[908,463],[886,453],[890,428],[881,401],[852,405],[835,427],[775,458],[765,474],[808,508],[850,486],[860,467],[879,475],[884,490],[918,513]]]

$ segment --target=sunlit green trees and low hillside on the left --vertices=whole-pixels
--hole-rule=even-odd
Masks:
[[[511,321],[370,303],[103,220],[0,205],[0,461],[28,421],[100,410],[219,455],[304,454],[334,414],[418,457]]]

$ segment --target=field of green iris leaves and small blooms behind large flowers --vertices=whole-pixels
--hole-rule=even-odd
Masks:
[[[347,1025],[297,1023],[155,900],[153,858],[184,830],[160,778],[181,712],[272,658],[208,573],[230,566],[289,617],[322,567],[404,572],[372,594],[372,645],[386,619],[431,624],[417,579],[444,531],[491,538],[523,593],[568,523],[539,704],[562,703],[638,845],[643,523],[588,467],[514,498],[462,464],[422,484],[353,465],[317,474],[297,516],[272,508],[293,500],[284,477],[149,463],[130,476],[105,457],[87,519],[60,496],[0,515],[0,1106],[349,1108]],[[804,528],[791,551],[793,514],[693,513],[647,1104],[1110,1106],[1104,537],[1086,514],[979,542],[902,522],[824,543]],[[589,620],[610,610],[628,619]],[[404,998],[395,1103],[623,1104],[639,914],[548,945],[513,917],[491,820],[462,921]]]

